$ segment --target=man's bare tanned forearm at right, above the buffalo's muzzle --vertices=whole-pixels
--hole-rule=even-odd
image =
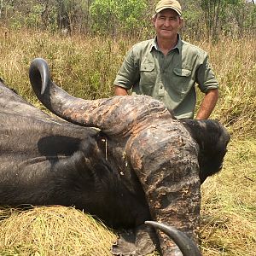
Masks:
[[[195,119],[208,119],[218,102],[218,89],[209,90],[201,102]]]

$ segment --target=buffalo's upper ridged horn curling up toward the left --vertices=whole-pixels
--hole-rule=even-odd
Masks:
[[[108,135],[127,136],[152,114],[171,116],[163,103],[149,96],[113,96],[93,101],[70,96],[51,81],[48,63],[42,58],[32,61],[29,78],[38,99],[52,113],[74,124],[100,128]]]

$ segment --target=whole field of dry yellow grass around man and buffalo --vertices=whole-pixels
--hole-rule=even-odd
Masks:
[[[113,42],[81,35],[64,38],[45,32],[11,32],[2,27],[0,76],[27,101],[42,108],[32,93],[28,67],[33,58],[44,57],[55,83],[73,96],[112,96],[115,74],[126,50],[136,41],[137,38],[119,38]],[[223,38],[214,45],[207,41],[191,43],[210,55],[221,92],[212,118],[220,119],[232,135],[223,171],[202,186],[201,250],[206,256],[253,256],[256,39]],[[84,235],[87,227],[92,231],[91,237]],[[0,255],[109,255],[114,237],[101,224],[98,227],[94,220],[73,208],[0,211]],[[98,251],[93,252],[95,247]]]

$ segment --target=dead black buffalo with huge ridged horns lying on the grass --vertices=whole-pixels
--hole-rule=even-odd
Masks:
[[[84,209],[130,230],[113,254],[159,247],[165,256],[200,255],[200,186],[222,167],[230,140],[223,125],[174,119],[149,96],[70,96],[51,81],[43,59],[32,61],[29,76],[38,99],[66,121],[0,83],[0,205]]]

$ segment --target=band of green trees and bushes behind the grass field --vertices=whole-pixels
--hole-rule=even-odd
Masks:
[[[152,37],[153,0],[0,0],[4,26],[50,32],[82,32],[112,36]],[[255,33],[256,4],[243,0],[180,0],[188,38],[242,37]]]

